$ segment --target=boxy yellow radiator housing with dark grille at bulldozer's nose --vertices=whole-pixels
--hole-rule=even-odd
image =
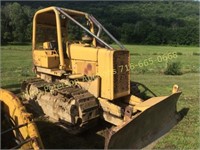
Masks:
[[[113,100],[130,94],[129,51],[100,49],[98,74],[101,77],[101,97]]]

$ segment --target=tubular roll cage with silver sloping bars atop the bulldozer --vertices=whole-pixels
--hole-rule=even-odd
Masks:
[[[63,47],[62,47],[62,33],[61,33],[61,20],[60,20],[60,14],[64,15],[68,19],[70,19],[72,22],[74,22],[76,25],[78,25],[80,28],[85,30],[88,34],[90,34],[93,37],[93,44],[96,46],[96,41],[104,45],[108,50],[114,50],[114,48],[106,43],[104,40],[102,40],[99,36],[102,32],[102,30],[121,48],[121,50],[126,50],[126,48],[117,40],[114,38],[114,36],[109,33],[103,25],[101,25],[92,15],[89,15],[84,12],[80,11],[74,11],[70,9],[64,9],[60,7],[48,7],[45,9],[41,9],[37,11],[34,15],[33,18],[33,37],[32,37],[32,49],[36,49],[36,29],[37,29],[37,16],[41,13],[46,13],[48,11],[53,11],[55,13],[55,18],[56,18],[56,28],[57,28],[57,41],[58,41],[58,51],[59,51],[59,57],[60,57],[60,65],[59,69],[60,70],[65,70],[66,64],[64,60],[64,52],[63,52]],[[70,14],[75,14],[79,16],[85,16],[85,18],[91,22],[91,29],[88,30],[85,28],[81,23],[79,23],[77,20],[75,20],[73,17],[70,16]],[[94,33],[94,25],[97,26],[98,32],[97,34]]]

